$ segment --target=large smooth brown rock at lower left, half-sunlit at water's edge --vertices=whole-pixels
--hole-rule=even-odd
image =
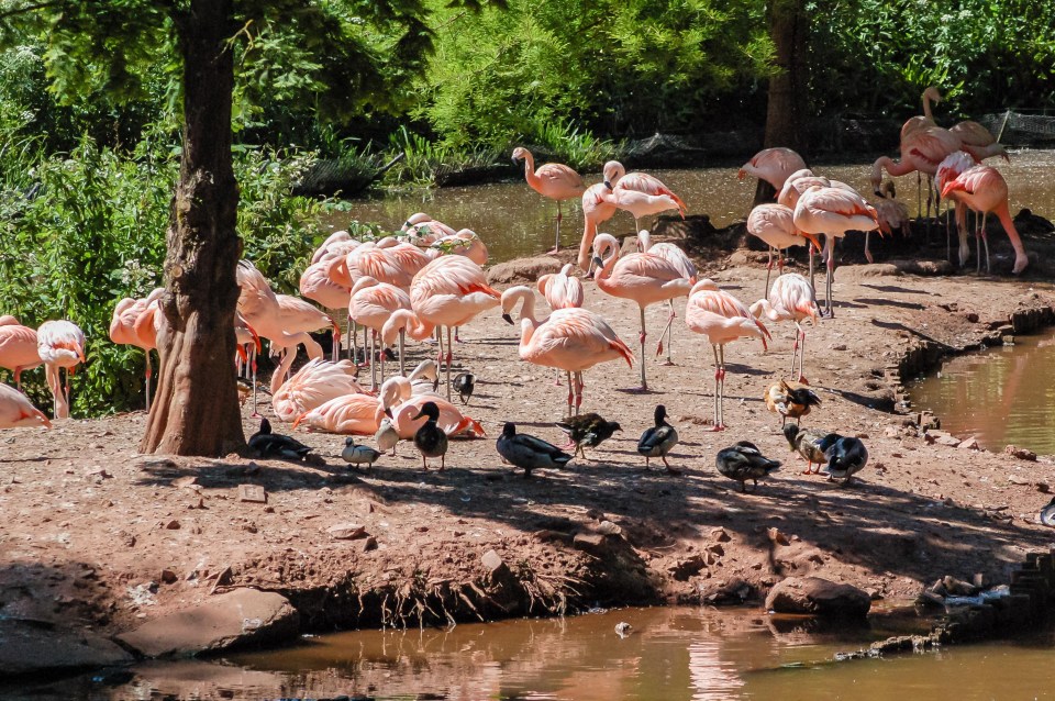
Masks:
[[[288,641],[299,628],[300,615],[286,597],[236,589],[193,609],[144,623],[118,639],[146,657],[192,657]]]

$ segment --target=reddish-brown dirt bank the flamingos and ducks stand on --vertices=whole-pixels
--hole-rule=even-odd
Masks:
[[[749,303],[762,293],[764,257],[741,249],[703,271]],[[711,349],[679,311],[676,365],[660,366],[658,305],[647,311],[649,391],[625,364],[586,374],[584,411],[623,431],[587,459],[524,479],[499,461],[493,441],[515,421],[563,443],[553,422],[566,390],[554,370],[519,360],[519,327],[495,310],[465,326],[456,347],[456,365],[478,377],[467,413],[488,437],[452,442],[444,472],[423,471],[407,443],[371,471],[352,470],[342,436],[302,430],[315,463],[142,456],[143,413],[3,432],[0,615],[115,633],[214,591],[255,587],[285,593],[308,625],[326,627],[741,600],[807,574],[888,601],[944,575],[1006,581],[1026,552],[1053,543],[1036,515],[1055,463],[932,443],[912,414],[891,411],[897,368],[992,342],[1012,312],[1055,305],[1055,290],[1029,278],[900,274],[889,263],[845,266],[835,280],[836,319],[807,340],[806,374],[823,405],[802,423],[865,442],[869,463],[848,487],[801,474],[763,401],[790,366],[792,325],[769,325],[767,353],[757,341],[726,348],[729,430],[714,433]],[[586,287],[587,307],[636,349],[636,305]],[[431,352],[415,346],[414,360]],[[680,435],[670,456],[680,476],[646,471],[635,452],[657,403]],[[251,411],[246,435],[257,427]],[[262,411],[275,422],[269,405]],[[741,439],[785,461],[754,493],[714,468],[715,453]],[[240,500],[242,485],[263,487],[266,503]],[[370,537],[327,532],[347,523]],[[482,557],[489,550],[500,564]],[[520,591],[503,591],[503,578]]]

